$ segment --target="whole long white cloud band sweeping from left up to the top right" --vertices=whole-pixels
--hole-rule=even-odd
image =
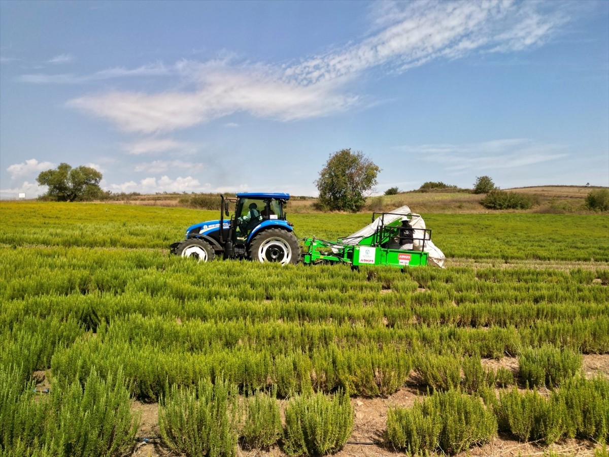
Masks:
[[[74,82],[141,74],[177,74],[192,90],[111,91],[68,102],[127,132],[170,132],[236,112],[294,121],[326,116],[362,102],[351,93],[365,71],[400,73],[443,59],[538,46],[565,23],[560,9],[540,2],[375,2],[374,28],[359,41],[301,62],[273,66],[227,55],[205,63],[181,60],[86,77],[26,75],[29,82]]]

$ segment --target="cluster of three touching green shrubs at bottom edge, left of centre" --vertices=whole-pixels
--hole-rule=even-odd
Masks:
[[[290,456],[340,450],[353,430],[346,394],[297,396],[285,409],[282,427],[275,395],[256,392],[242,411],[236,389],[226,381],[199,381],[195,389],[171,389],[159,410],[163,441],[186,456],[234,456],[239,439],[247,449],[280,444]]]

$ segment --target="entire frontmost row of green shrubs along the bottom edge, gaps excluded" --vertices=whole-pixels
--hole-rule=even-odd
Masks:
[[[116,456],[133,447],[138,417],[130,411],[128,381],[121,372],[104,380],[91,370],[84,381],[54,378],[51,393],[22,384],[23,368],[0,372],[0,450],[3,456]],[[434,391],[412,408],[391,408],[387,444],[407,455],[454,455],[489,442],[499,432],[520,441],[551,444],[560,438],[607,442],[609,381],[572,376],[559,389],[499,392],[487,384],[474,394],[462,387]],[[340,450],[353,430],[346,392],[296,395],[281,425],[276,391],[257,391],[239,401],[234,384],[218,378],[172,386],[161,399],[163,442],[186,456],[223,457],[243,448],[280,445],[290,456]]]

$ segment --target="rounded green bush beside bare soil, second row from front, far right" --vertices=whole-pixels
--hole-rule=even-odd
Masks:
[[[582,355],[567,348],[544,344],[524,349],[518,356],[519,376],[535,387],[556,387],[582,368]]]

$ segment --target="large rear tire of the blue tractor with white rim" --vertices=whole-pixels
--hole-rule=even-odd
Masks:
[[[249,254],[254,261],[295,265],[300,260],[300,245],[294,233],[281,228],[269,228],[254,237]]]

